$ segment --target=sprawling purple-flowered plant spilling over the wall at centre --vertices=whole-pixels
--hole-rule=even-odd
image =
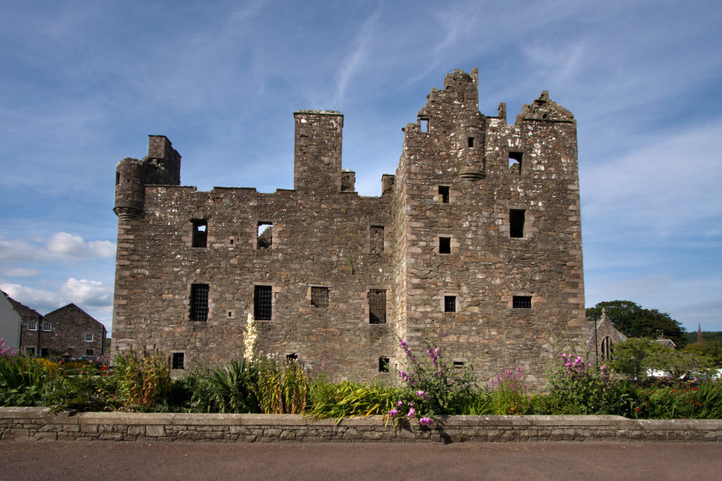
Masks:
[[[426,356],[415,356],[403,339],[404,369],[399,371],[403,386],[399,400],[387,412],[395,425],[417,419],[422,426],[433,423],[435,415],[453,414],[458,400],[469,397],[474,378],[466,369],[458,370],[441,355],[440,348],[427,346]]]

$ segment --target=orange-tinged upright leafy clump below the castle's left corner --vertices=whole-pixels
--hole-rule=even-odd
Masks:
[[[162,404],[170,393],[170,363],[157,351],[135,350],[116,357],[117,398],[125,409],[147,410]]]

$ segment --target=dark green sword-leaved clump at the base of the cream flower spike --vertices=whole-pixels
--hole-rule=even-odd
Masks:
[[[230,361],[212,369],[196,366],[176,384],[176,392],[191,392],[191,410],[196,412],[260,412],[256,381],[258,368],[245,360]]]

